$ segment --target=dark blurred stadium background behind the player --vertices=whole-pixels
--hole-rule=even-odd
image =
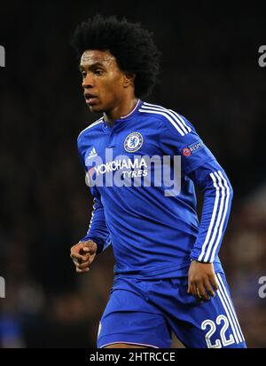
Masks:
[[[162,52],[147,101],[196,126],[234,188],[221,259],[250,347],[266,346],[266,44],[260,6],[207,2],[21,1],[0,8],[0,298],[2,347],[95,347],[113,282],[109,248],[79,276],[70,247],[91,200],[76,138],[98,116],[82,98],[74,28],[96,13],[140,21]],[[215,6],[215,7],[214,7]],[[174,339],[174,347],[182,345]]]

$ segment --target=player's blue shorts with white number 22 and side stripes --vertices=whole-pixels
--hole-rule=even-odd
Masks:
[[[118,278],[98,329],[98,348],[115,343],[169,348],[171,331],[186,347],[246,348],[223,273],[215,298],[199,303],[186,277]]]

